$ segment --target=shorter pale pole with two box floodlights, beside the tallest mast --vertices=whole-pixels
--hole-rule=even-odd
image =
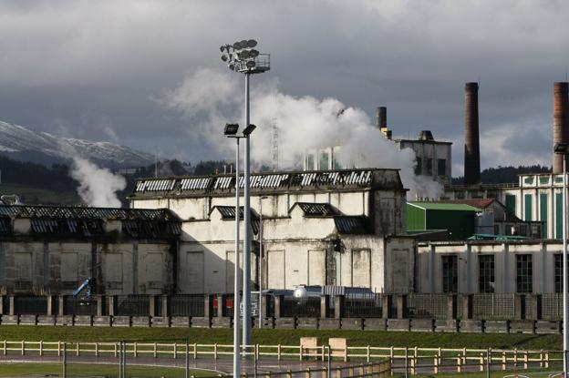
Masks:
[[[235,138],[236,148],[235,148],[235,255],[234,261],[234,273],[233,273],[233,377],[239,377],[241,375],[241,356],[240,356],[240,321],[241,313],[239,308],[239,283],[240,283],[240,264],[239,264],[239,137],[237,130],[239,125],[237,124],[227,124],[225,125],[224,134],[228,138]],[[221,306],[221,303],[217,303]]]

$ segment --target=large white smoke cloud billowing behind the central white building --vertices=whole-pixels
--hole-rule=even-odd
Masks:
[[[439,183],[414,175],[413,151],[399,150],[384,138],[363,110],[331,97],[285,95],[275,80],[252,77],[251,81],[251,123],[257,126],[251,157],[257,163],[270,166],[271,121],[276,118],[281,169],[302,167],[307,150],[341,146],[338,158],[345,167],[400,169],[409,199],[439,198],[442,194]],[[203,138],[226,158],[233,156],[234,142],[223,137],[222,127],[228,122],[243,126],[243,76],[201,69],[159,101],[189,118],[191,137]]]

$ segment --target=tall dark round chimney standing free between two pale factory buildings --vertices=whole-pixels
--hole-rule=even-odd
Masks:
[[[478,83],[464,86],[464,184],[480,184],[480,141],[478,132]]]

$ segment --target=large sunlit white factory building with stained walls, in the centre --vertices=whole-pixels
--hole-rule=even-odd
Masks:
[[[137,182],[132,208],[166,208],[181,219],[180,292],[233,292],[234,185],[226,175]],[[262,222],[265,288],[412,291],[415,240],[405,235],[405,195],[397,169],[253,174],[253,284]]]

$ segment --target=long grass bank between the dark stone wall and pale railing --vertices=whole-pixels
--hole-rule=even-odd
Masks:
[[[253,342],[259,344],[297,345],[303,336],[317,336],[323,342],[330,337],[346,337],[353,346],[398,346],[422,348],[518,348],[561,350],[561,335],[523,333],[436,333],[321,330],[253,330]],[[111,328],[0,325],[0,340],[8,341],[147,341],[179,340],[199,343],[232,344],[232,329],[200,328]]]

